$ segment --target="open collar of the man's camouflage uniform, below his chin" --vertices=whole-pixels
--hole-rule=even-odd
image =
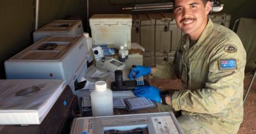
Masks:
[[[207,25],[205,29],[203,29],[203,33],[200,35],[198,41],[194,44],[194,46],[203,46],[205,45],[202,43],[209,35],[211,34],[211,31],[213,30],[213,22],[211,21],[211,18],[208,18]],[[198,43],[200,42],[200,43]],[[186,43],[183,45],[185,50],[189,49],[190,39],[188,36],[186,36]]]

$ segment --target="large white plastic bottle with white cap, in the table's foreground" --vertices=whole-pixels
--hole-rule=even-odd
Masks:
[[[113,112],[112,90],[106,88],[106,82],[95,82],[95,90],[91,92],[93,116],[111,116]]]

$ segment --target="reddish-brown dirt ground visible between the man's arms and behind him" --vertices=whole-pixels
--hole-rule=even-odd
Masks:
[[[251,75],[245,76],[244,93],[251,80]],[[179,89],[181,82],[179,80],[151,80],[152,85],[165,89]],[[247,96],[244,104],[244,121],[242,122],[238,134],[255,134],[256,133],[256,80]]]

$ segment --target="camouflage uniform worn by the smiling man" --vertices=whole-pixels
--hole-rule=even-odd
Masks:
[[[173,108],[182,111],[177,120],[184,133],[238,132],[244,116],[245,60],[239,37],[209,19],[196,44],[190,47],[184,35],[175,61],[156,65],[153,77],[181,78],[182,88],[171,99]],[[227,61],[236,61],[236,67],[221,66]]]

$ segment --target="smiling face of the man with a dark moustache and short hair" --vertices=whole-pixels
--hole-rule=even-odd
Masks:
[[[207,14],[210,10],[209,1],[203,5],[202,0],[175,0],[173,14],[178,27],[184,33],[199,38],[207,25]]]

